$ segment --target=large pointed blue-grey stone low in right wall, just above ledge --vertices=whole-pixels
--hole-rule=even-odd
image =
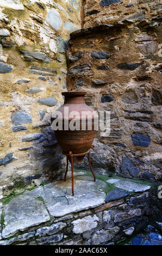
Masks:
[[[121,173],[125,177],[138,177],[139,169],[129,157],[125,156],[121,164]]]

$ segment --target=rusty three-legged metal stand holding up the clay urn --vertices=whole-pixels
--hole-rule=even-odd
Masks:
[[[92,149],[95,148],[94,145],[91,146]],[[96,176],[92,170],[92,166],[91,166],[91,155],[90,155],[90,149],[89,151],[85,152],[85,153],[82,153],[82,154],[72,154],[72,151],[69,152],[69,154],[66,154],[63,152],[63,155],[66,156],[66,172],[65,172],[65,178],[64,180],[66,181],[66,175],[67,175],[67,172],[68,172],[68,157],[70,158],[70,162],[71,162],[71,177],[72,177],[72,196],[74,196],[74,177],[73,177],[73,156],[84,156],[84,155],[88,155],[89,154],[89,165],[90,165],[90,169],[91,169],[91,173],[93,174],[94,176],[94,181],[96,181]]]

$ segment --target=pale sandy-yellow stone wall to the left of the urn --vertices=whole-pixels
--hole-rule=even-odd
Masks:
[[[0,3],[0,198],[59,176],[50,118],[64,102],[67,40],[79,28],[78,0]]]

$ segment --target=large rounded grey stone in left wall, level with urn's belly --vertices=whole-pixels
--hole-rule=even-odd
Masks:
[[[18,111],[16,113],[11,114],[11,121],[14,125],[32,123],[32,117],[24,111]]]

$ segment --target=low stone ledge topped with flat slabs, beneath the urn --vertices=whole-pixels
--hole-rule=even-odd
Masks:
[[[160,229],[151,182],[144,185],[108,176],[105,182],[94,182],[92,176],[78,175],[74,197],[67,179],[2,200],[0,245],[114,245],[144,232],[150,218],[149,224]]]

